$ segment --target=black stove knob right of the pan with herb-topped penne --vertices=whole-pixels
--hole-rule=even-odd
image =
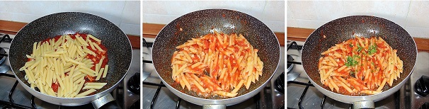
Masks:
[[[416,81],[414,88],[415,88],[414,90],[418,95],[420,96],[428,95],[429,94],[429,77],[424,75],[421,76],[421,78]]]

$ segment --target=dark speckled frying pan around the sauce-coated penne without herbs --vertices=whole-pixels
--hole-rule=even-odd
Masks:
[[[176,50],[175,47],[182,45],[191,38],[199,38],[200,35],[212,33],[213,30],[227,34],[243,34],[248,42],[259,50],[258,56],[264,63],[263,76],[259,78],[259,81],[252,84],[248,90],[241,88],[239,94],[234,98],[198,96],[193,91],[182,89],[171,79],[171,57]],[[176,96],[197,105],[220,104],[224,107],[224,105],[234,105],[245,101],[261,91],[277,69],[280,59],[280,45],[270,28],[246,13],[227,9],[206,9],[185,14],[168,23],[156,35],[152,54],[157,74],[166,87]]]

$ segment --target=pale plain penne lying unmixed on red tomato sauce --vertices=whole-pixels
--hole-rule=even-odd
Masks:
[[[95,41],[91,42],[90,39]],[[90,45],[92,50],[87,47]],[[90,90],[81,90],[87,81],[93,83],[105,76],[101,75],[106,74],[108,69],[108,64],[101,67],[107,57],[105,52],[101,40],[92,35],[58,35],[34,42],[32,54],[25,54],[29,61],[19,70],[25,71],[30,88],[39,88],[40,93],[62,98],[87,96],[95,91],[94,88],[99,89],[106,84],[90,84],[86,85]],[[86,57],[88,54],[93,57]],[[100,64],[96,69],[91,69],[96,61]]]

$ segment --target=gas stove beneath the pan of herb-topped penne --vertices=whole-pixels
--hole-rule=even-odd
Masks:
[[[295,43],[297,45],[295,45]],[[335,101],[324,96],[309,82],[309,78],[301,64],[301,50],[304,42],[287,40],[287,108],[350,108],[352,105]],[[406,81],[406,84],[396,93],[375,102],[376,108],[421,108],[429,105],[429,96],[421,96],[416,81],[423,76],[429,76],[429,53],[418,52],[416,66]],[[425,93],[429,89],[429,80],[425,84]],[[425,104],[425,105],[424,105]],[[426,107],[427,108],[427,107]]]

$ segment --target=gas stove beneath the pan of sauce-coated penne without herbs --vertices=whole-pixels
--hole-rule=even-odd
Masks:
[[[174,95],[174,93],[171,93],[171,91],[161,83],[161,79],[158,74],[156,74],[154,64],[151,62],[151,44],[153,42],[153,38],[143,38],[143,47],[141,48],[143,52],[143,108],[202,108],[201,105],[183,101],[181,98]],[[284,56],[285,47],[280,47],[280,64],[278,65],[273,79],[270,80],[270,84],[267,84],[267,86],[265,86],[260,93],[253,96],[253,98],[249,98],[236,105],[227,106],[227,108],[285,108]],[[283,92],[281,92],[281,90],[283,90]]]

